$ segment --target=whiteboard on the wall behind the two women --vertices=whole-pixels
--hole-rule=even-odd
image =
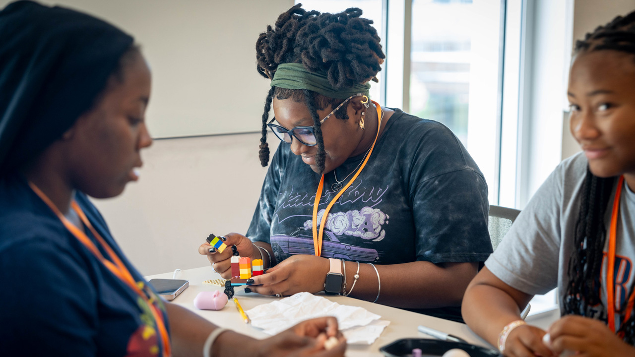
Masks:
[[[293,0],[41,3],[89,13],[135,37],[152,70],[152,137],[260,131],[270,81],[256,71],[256,40]]]

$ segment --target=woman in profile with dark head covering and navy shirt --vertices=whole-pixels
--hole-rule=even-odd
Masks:
[[[88,196],[138,179],[149,98],[116,27],[31,1],[0,11],[0,356],[344,356],[335,318],[256,340],[163,301],[128,262]]]

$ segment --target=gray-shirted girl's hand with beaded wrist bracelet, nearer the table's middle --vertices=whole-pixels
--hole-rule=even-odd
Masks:
[[[521,325],[514,328],[505,340],[505,356],[514,357],[556,357],[549,347],[542,342],[546,332],[540,328]]]

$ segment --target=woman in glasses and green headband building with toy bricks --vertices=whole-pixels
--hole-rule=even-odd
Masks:
[[[246,237],[225,243],[270,268],[248,292],[324,290],[460,318],[491,253],[485,179],[448,128],[368,99],[385,56],[360,16],[298,4],[260,34],[257,69],[271,79],[263,166],[267,125],[283,143]],[[229,278],[231,252],[209,248],[199,252]]]

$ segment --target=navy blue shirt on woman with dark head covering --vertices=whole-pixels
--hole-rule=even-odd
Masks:
[[[145,283],[95,206],[79,192],[76,201],[135,280]],[[17,176],[0,179],[0,287],[0,356],[162,354],[161,335],[141,297]],[[144,290],[151,291],[147,285]],[[155,297],[154,304],[167,325],[163,302]]]

